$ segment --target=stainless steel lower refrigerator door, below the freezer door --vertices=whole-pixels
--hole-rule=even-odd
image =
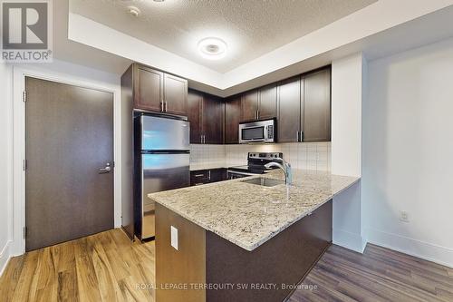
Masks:
[[[189,154],[143,154],[141,239],[155,236],[155,204],[149,193],[188,187],[190,184]]]

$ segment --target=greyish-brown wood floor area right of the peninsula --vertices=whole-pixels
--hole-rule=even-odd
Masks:
[[[332,246],[302,285],[289,302],[453,301],[452,268],[371,244],[363,255]]]

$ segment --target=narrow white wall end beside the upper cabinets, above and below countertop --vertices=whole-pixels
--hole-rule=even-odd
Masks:
[[[361,176],[361,102],[366,62],[353,54],[332,63],[332,173]],[[333,243],[362,252],[361,182],[333,199]]]

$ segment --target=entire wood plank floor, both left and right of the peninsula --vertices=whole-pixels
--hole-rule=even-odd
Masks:
[[[0,301],[154,301],[154,241],[120,229],[12,258]],[[288,299],[453,301],[453,269],[368,245],[363,255],[332,246]]]

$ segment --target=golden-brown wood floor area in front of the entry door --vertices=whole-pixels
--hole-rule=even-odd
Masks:
[[[153,301],[154,241],[112,229],[12,258],[0,301]]]

